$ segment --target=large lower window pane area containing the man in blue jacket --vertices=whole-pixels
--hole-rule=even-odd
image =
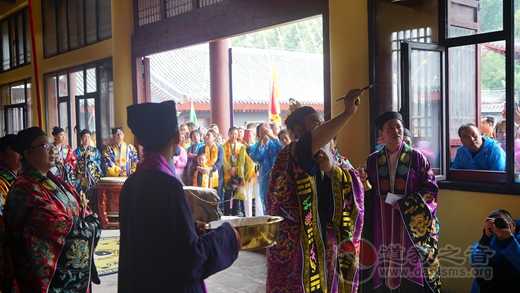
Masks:
[[[505,43],[450,48],[449,54],[451,167],[505,171],[506,138],[496,131],[506,123]],[[468,123],[474,126],[459,137]]]

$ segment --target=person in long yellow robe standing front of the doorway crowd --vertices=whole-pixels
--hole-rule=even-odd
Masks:
[[[238,128],[231,127],[224,143],[225,215],[244,216],[246,147],[238,141]]]

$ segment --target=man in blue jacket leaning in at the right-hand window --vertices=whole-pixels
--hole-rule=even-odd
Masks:
[[[506,153],[491,138],[482,137],[474,124],[465,124],[459,128],[462,146],[457,150],[453,169],[505,171]]]

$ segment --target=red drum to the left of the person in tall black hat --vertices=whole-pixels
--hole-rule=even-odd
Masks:
[[[119,229],[119,194],[126,177],[103,177],[96,184],[97,211],[102,229]]]

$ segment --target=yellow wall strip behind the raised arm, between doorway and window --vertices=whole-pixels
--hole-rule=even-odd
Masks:
[[[332,115],[343,111],[336,102],[346,91],[368,84],[367,1],[330,0],[330,51]],[[358,113],[338,136],[340,150],[360,165],[370,151],[369,99],[361,100]]]

